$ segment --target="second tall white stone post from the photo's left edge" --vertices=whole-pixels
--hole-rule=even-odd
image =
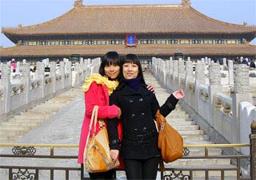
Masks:
[[[31,78],[30,78],[30,65],[22,65],[22,81],[25,82],[25,93],[26,93],[26,104],[29,104],[31,101],[30,96],[30,87],[31,87]]]

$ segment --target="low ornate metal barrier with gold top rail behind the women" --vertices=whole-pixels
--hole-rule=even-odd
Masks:
[[[72,162],[75,162],[75,159],[78,158],[78,155],[73,155],[71,153],[70,155],[54,155],[54,149],[58,148],[78,148],[78,144],[33,144],[33,143],[0,143],[0,147],[13,147],[13,153],[18,152],[16,154],[9,154],[3,155],[2,152],[0,152],[0,156],[2,158],[46,158],[46,159],[73,159]],[[48,147],[50,148],[50,154],[48,154],[46,151],[46,155],[35,155],[36,150],[34,147]],[[250,143],[236,143],[236,144],[184,144],[184,150],[183,150],[183,157],[181,159],[226,159],[230,158],[234,160],[234,164],[231,166],[172,166],[171,164],[166,165],[166,171],[161,172],[161,179],[165,179],[165,177],[169,177],[170,179],[173,179],[173,177],[177,177],[178,179],[186,179],[190,177],[190,179],[194,179],[194,173],[196,172],[204,172],[205,178],[209,180],[210,172],[212,171],[219,171],[221,172],[221,179],[225,178],[225,172],[229,170],[236,171],[236,177],[240,180],[242,179],[250,179],[250,178],[242,178],[240,177],[241,173],[241,160],[242,159],[249,159],[251,158],[251,155],[208,155],[208,150],[210,148],[214,147],[250,147]],[[30,151],[33,151],[32,153],[30,151],[26,151],[27,148]],[[205,153],[204,155],[189,155],[189,148],[203,148]],[[57,151],[57,150],[56,150]],[[26,154],[26,152],[29,152]],[[57,160],[58,161],[58,160]],[[51,179],[54,179],[54,171],[62,170],[65,171],[66,179],[72,179],[70,177],[71,171],[78,171],[78,174],[83,174],[82,168],[78,165],[76,166],[70,166],[62,164],[62,166],[59,166],[57,163],[56,166],[27,166],[26,164],[22,166],[14,166],[14,164],[0,164],[0,169],[2,170],[8,170],[9,177],[11,178],[12,174],[18,174],[23,173],[25,174],[26,171],[33,172],[35,179],[38,178],[39,170],[50,170],[49,174]],[[25,169],[25,171],[24,171]],[[123,169],[121,169],[123,170]],[[182,174],[183,173],[183,174]],[[182,176],[182,178],[181,178]],[[82,179],[90,179],[90,178],[82,178]]]

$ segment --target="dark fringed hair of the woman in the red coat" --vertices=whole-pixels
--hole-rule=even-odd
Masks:
[[[121,68],[122,68],[121,59],[117,52],[110,51],[102,57],[102,63],[98,68],[98,73],[100,73],[100,75],[102,76],[106,76],[105,70],[104,70],[106,65],[118,65],[120,67],[120,72],[121,72]],[[117,77],[118,81],[120,81],[120,79],[121,79],[121,73],[119,73]]]

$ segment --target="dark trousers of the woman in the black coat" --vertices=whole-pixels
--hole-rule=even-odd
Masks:
[[[156,179],[160,158],[124,159],[127,179]]]

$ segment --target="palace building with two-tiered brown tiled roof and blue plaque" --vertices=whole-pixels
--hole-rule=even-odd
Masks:
[[[101,57],[108,51],[141,59],[174,53],[198,59],[256,56],[256,26],[222,22],[198,12],[190,0],[176,5],[83,6],[38,25],[2,27],[14,47],[0,48],[1,61]]]

